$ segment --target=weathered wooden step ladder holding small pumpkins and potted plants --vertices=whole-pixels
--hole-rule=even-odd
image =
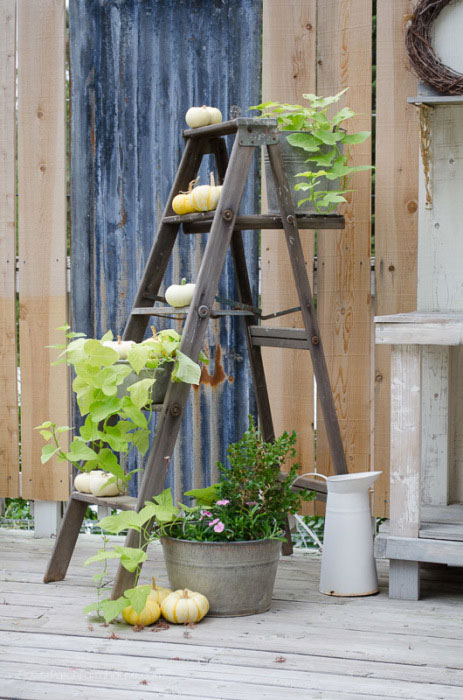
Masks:
[[[229,134],[236,134],[230,160],[223,138]],[[274,439],[274,430],[261,346],[307,349],[312,358],[334,469],[337,474],[345,473],[347,468],[344,450],[299,237],[299,228],[340,229],[344,227],[344,220],[341,216],[336,215],[296,216],[281,158],[276,120],[238,118],[221,124],[190,129],[184,131],[183,136],[186,140],[185,151],[124,331],[124,339],[140,342],[144,337],[150,316],[162,313],[162,307],[154,304],[158,299],[159,289],[180,225],[183,225],[185,233],[209,231],[196,280],[194,297],[188,312],[185,313],[180,350],[193,360],[197,360],[209,318],[216,313],[212,311],[212,307],[226,254],[228,248],[231,247],[239,302],[235,305],[235,309],[222,313],[239,313],[243,317],[257,409],[264,439],[267,441]],[[278,195],[280,215],[238,216],[254,149],[262,145],[268,151],[274,186]],[[188,183],[196,177],[203,156],[209,153],[215,157],[218,176],[223,182],[216,211],[174,216],[172,210],[174,196],[187,189]],[[284,230],[304,322],[303,329],[268,328],[256,325],[259,311],[255,308],[251,295],[241,230],[266,228]],[[164,309],[164,311],[168,314],[172,313],[173,310]],[[178,313],[177,310],[175,311]],[[46,583],[60,581],[66,575],[89,503],[138,510],[143,507],[146,500],[150,500],[164,488],[189,389],[190,385],[188,384],[171,383],[164,403],[157,407],[160,410],[160,416],[157,421],[153,445],[147,458],[138,499],[127,496],[95,498],[78,492],[71,494],[45,574],[44,581]],[[316,490],[323,499],[323,485],[320,485],[316,480],[301,478],[297,482],[297,487]],[[126,545],[139,546],[138,533],[129,530]],[[133,584],[133,580],[134,574],[119,567],[113,596],[118,597]]]

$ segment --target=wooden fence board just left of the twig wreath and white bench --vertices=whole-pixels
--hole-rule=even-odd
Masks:
[[[378,0],[376,81],[375,313],[416,309],[418,120],[407,97],[417,81],[404,37],[412,0]],[[376,347],[375,511],[389,505],[390,348]]]

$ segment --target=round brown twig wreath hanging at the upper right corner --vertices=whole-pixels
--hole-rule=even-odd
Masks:
[[[431,45],[430,30],[438,14],[451,0],[419,0],[405,35],[410,62],[418,76],[437,92],[463,95],[463,75],[439,60]]]

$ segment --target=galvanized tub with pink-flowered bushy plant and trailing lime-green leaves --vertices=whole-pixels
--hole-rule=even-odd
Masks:
[[[139,513],[117,513],[104,518],[100,527],[110,534],[133,528],[140,533],[140,543],[161,538],[171,587],[204,594],[211,614],[264,612],[270,607],[286,514],[297,512],[301,500],[313,496],[291,489],[298,468],[291,464],[295,442],[294,432],[265,442],[250,418],[243,438],[229,446],[227,463],[217,465],[221,480],[186,492],[194,505],[175,505],[166,489]],[[283,475],[284,468],[288,471]],[[146,526],[153,518],[156,524],[148,533]],[[138,580],[146,547],[104,549],[87,563],[114,557],[129,571],[137,571]],[[109,614],[116,616],[118,605],[127,605],[126,598],[127,591],[119,603],[110,601]]]

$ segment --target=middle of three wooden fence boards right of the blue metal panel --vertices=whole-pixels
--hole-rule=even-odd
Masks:
[[[370,0],[322,0],[317,15],[317,92],[349,87],[340,106],[358,113],[348,129],[371,128],[372,4]],[[352,162],[370,163],[371,141],[353,149]],[[352,179],[354,192],[341,212],[344,231],[318,238],[318,317],[349,471],[370,466],[370,182]],[[317,464],[331,470],[321,420]]]

